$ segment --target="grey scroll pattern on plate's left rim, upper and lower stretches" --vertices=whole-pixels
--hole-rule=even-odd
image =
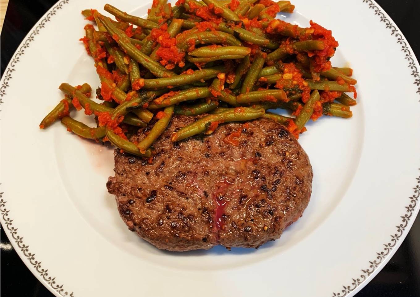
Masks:
[[[6,95],[6,89],[9,86],[9,81],[13,78],[12,73],[13,71],[15,71],[16,64],[20,62],[20,57],[25,53],[25,49],[29,47],[29,44],[32,41],[34,41],[35,35],[39,34],[39,30],[45,28],[45,24],[49,22],[51,17],[55,15],[57,11],[63,7],[64,4],[67,4],[68,1],[69,0],[61,0],[56,5],[54,5],[47,13],[47,15],[45,15],[45,18],[42,18],[41,21],[39,21],[38,25],[34,28],[31,34],[29,34],[25,41],[22,42],[21,46],[16,51],[16,54],[12,58],[9,67],[7,68],[5,73],[3,73],[3,83],[0,87],[0,103],[3,103],[3,100],[1,98],[3,98],[3,96]],[[55,292],[57,292],[63,297],[74,297],[73,292],[69,294],[65,289],[63,289],[63,284],[57,284],[57,282],[55,281],[55,276],[49,276],[48,269],[42,268],[42,262],[36,260],[35,254],[29,251],[29,245],[24,244],[23,237],[18,235],[18,228],[12,226],[13,220],[11,220],[9,217],[9,210],[5,208],[5,204],[7,203],[7,201],[4,201],[2,199],[2,196],[3,192],[0,193],[0,212],[1,217],[3,219],[3,227],[7,228],[7,230],[10,232],[12,238],[15,240],[22,254],[26,257],[26,259],[34,267],[34,269],[39,273],[39,275],[42,276],[42,279],[45,281],[45,284],[50,286]]]

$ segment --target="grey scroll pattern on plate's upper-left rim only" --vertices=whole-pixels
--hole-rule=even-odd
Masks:
[[[34,28],[34,30],[29,34],[29,36],[25,39],[24,42],[22,42],[21,46],[16,51],[14,57],[12,58],[12,61],[10,63],[10,66],[7,68],[7,70],[3,73],[3,83],[0,87],[0,103],[3,103],[3,96],[6,95],[6,89],[9,86],[9,80],[12,79],[12,73],[15,71],[15,66],[17,62],[20,62],[20,57],[25,54],[25,49],[29,47],[29,44],[34,41],[35,35],[39,34],[39,30],[42,28],[45,28],[45,24],[50,21],[51,17],[55,15],[55,13],[62,8],[63,4],[67,4],[69,0],[61,0],[56,5],[54,5],[50,11],[45,15],[45,18],[42,18],[41,21],[38,23],[38,25]]]

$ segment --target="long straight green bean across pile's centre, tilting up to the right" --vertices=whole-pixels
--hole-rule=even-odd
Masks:
[[[216,77],[220,72],[225,71],[223,66],[206,68],[203,70],[196,70],[193,74],[181,74],[166,78],[152,78],[144,80],[144,90],[152,90],[165,88],[168,86],[177,87],[179,85],[186,85],[202,80],[204,78]]]

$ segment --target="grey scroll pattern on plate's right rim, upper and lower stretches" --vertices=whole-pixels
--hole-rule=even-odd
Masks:
[[[386,15],[382,12],[377,3],[375,3],[373,0],[363,0],[363,3],[367,3],[367,5],[369,5],[369,8],[373,9],[375,15],[379,16],[380,21],[384,22],[386,28],[391,30],[391,35],[394,35],[396,37],[397,44],[401,45],[401,51],[404,52],[405,59],[407,59],[408,61],[408,67],[412,70],[411,75],[414,77],[414,84],[418,87],[416,93],[419,93],[420,95],[420,75],[417,69],[417,65],[415,63],[415,58],[410,52],[407,42],[404,40],[402,34],[398,33],[398,28],[386,17]],[[396,226],[396,233],[394,233],[394,235],[391,235],[391,240],[388,243],[383,244],[385,247],[381,252],[376,253],[375,260],[369,261],[369,267],[367,269],[362,269],[363,274],[361,274],[360,277],[356,279],[352,279],[352,283],[350,285],[343,285],[341,292],[333,293],[332,297],[344,297],[347,294],[350,294],[350,292],[354,291],[357,287],[360,286],[360,284],[365,282],[367,277],[370,276],[373,273],[373,271],[375,271],[378,268],[378,266],[382,263],[382,260],[385,259],[386,256],[392,251],[399,238],[403,235],[405,228],[407,227],[408,222],[411,219],[411,216],[417,206],[417,201],[420,197],[420,176],[416,179],[417,186],[413,188],[414,193],[411,197],[409,197],[410,204],[408,204],[408,206],[405,207],[406,214],[401,216],[402,221],[398,226]]]

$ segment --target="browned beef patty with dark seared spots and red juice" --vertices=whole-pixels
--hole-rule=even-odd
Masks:
[[[257,248],[279,238],[311,195],[312,168],[296,138],[257,119],[171,142],[174,131],[193,121],[174,116],[151,163],[115,150],[107,187],[126,225],[168,251]],[[141,140],[144,129],[131,140]]]

